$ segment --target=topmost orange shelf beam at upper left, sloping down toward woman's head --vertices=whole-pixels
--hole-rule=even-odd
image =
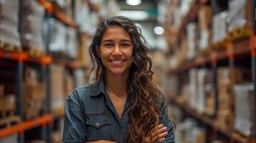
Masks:
[[[49,2],[47,0],[37,0],[39,4],[42,4],[44,6],[44,9],[47,10],[49,14],[52,14],[53,16],[56,16],[57,19],[62,21],[64,24],[67,24],[68,26],[77,28],[77,24],[72,21],[67,15],[60,9],[56,4],[53,2]]]

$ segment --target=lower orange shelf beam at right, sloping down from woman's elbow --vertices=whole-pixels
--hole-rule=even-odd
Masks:
[[[223,134],[225,137],[228,137],[234,142],[237,143],[244,143],[248,142],[248,139],[237,137],[237,134],[231,131],[228,131],[227,129],[222,129],[218,126],[217,119],[213,119],[210,117],[207,117],[206,115],[196,112],[196,110],[191,109],[190,107],[187,107],[187,104],[184,104],[184,102],[179,102],[179,100],[175,96],[171,96],[171,104],[176,105],[177,107],[183,109],[186,113],[190,114],[192,117],[204,122],[204,124],[207,124],[209,127],[212,127],[214,131],[217,131],[221,134]],[[252,139],[248,142],[252,142]]]

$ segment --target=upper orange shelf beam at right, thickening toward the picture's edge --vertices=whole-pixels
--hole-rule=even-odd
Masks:
[[[253,48],[250,47],[250,39],[244,39],[230,44],[227,47],[223,47],[219,50],[212,50],[210,54],[205,56],[197,56],[191,61],[187,61],[176,69],[169,69],[169,74],[175,74],[186,71],[191,68],[204,66],[205,64],[212,64],[214,62],[222,61],[224,59],[235,60],[252,54]]]

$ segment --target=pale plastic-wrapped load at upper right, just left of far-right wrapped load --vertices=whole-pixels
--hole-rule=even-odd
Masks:
[[[227,34],[227,11],[222,11],[219,14],[215,14],[212,20],[212,42],[214,44],[224,41]]]

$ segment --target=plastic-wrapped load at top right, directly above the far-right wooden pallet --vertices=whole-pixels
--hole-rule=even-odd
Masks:
[[[229,1],[228,31],[241,28],[246,24],[252,26],[252,6],[250,3],[250,0]]]

